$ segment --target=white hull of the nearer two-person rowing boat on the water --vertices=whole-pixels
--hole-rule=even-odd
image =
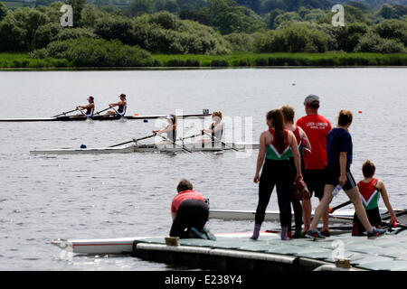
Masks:
[[[226,144],[130,144],[116,147],[99,148],[62,148],[33,150],[30,154],[128,154],[128,153],[178,153],[185,149],[191,152],[222,152],[237,149],[247,151],[258,149],[259,144],[255,143],[226,143]]]

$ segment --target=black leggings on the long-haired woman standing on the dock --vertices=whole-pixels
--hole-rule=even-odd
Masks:
[[[281,226],[290,226],[292,176],[289,161],[274,161],[266,159],[264,162],[260,175],[259,203],[257,205],[255,222],[259,225],[263,222],[274,186],[277,187],[279,221]]]

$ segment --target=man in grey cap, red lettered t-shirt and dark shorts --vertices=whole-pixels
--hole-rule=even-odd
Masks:
[[[308,135],[312,152],[304,151],[305,173],[304,181],[307,183],[308,191],[312,196],[321,200],[324,196],[325,188],[325,168],[327,166],[327,134],[332,129],[327,118],[318,115],[319,98],[316,95],[309,95],[304,101],[307,116],[301,117],[297,121],[297,126],[301,127]],[[303,200],[304,230],[307,232],[311,224],[311,200]],[[328,211],[323,215],[324,225],[321,234],[329,236],[329,215]]]

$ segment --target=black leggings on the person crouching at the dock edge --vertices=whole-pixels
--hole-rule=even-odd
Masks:
[[[208,205],[203,200],[184,200],[176,211],[170,237],[189,238],[187,228],[202,230],[209,218]]]

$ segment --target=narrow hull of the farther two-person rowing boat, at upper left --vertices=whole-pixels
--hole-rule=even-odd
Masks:
[[[205,114],[185,114],[179,115],[176,117],[209,117],[211,116],[209,113]],[[164,118],[167,115],[155,115],[155,116],[125,116],[123,118],[128,120],[143,120],[143,119],[156,119],[156,118]],[[117,120],[122,118],[118,115],[112,116],[93,116],[93,117],[37,117],[37,118],[0,118],[0,122],[43,122],[43,121],[84,121],[84,120]]]

